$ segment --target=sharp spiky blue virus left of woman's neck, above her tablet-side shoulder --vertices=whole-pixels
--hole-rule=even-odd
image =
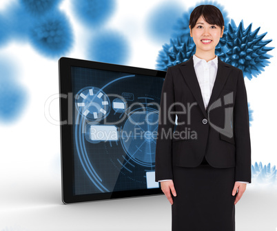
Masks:
[[[163,50],[158,52],[156,68],[165,70],[178,63],[187,61],[196,51],[195,43],[191,39],[183,42],[183,39],[170,39],[170,44],[165,43]]]

